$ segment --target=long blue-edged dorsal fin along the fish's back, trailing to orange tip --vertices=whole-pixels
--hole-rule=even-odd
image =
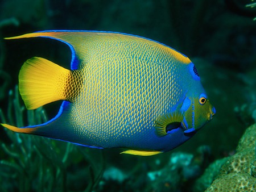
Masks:
[[[136,35],[129,35],[129,34],[122,34],[118,32],[110,32],[110,31],[39,31],[34,32],[31,34],[24,34],[15,37],[7,37],[5,39],[21,39],[21,38],[30,38],[30,37],[48,37],[51,39],[60,40],[63,43],[67,44],[72,51],[72,61],[71,61],[71,69],[79,69],[79,60],[83,60],[85,54],[89,52],[86,50],[87,48],[84,47],[84,43],[88,43],[90,45],[95,43],[95,40],[103,40],[116,42],[117,40],[131,40],[136,39],[137,41],[143,41],[150,43],[154,46],[158,46],[161,49],[166,49],[166,51],[170,52],[177,60],[183,62],[184,64],[191,63],[191,60],[188,59],[187,56],[177,52],[175,49],[168,47],[162,43],[157,41],[147,39],[144,37],[136,36]],[[100,40],[100,41],[101,41]],[[96,47],[104,47],[104,45],[97,44]]]

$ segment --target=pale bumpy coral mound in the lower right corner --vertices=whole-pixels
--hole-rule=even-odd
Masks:
[[[218,176],[206,191],[256,190],[255,140],[256,124],[247,128],[237,146],[237,153],[222,165]]]

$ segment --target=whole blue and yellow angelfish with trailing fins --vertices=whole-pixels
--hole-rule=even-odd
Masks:
[[[3,127],[91,148],[151,156],[183,144],[216,113],[187,56],[158,41],[108,31],[39,31],[69,46],[70,69],[32,57],[19,72],[28,110],[63,101],[46,123]]]

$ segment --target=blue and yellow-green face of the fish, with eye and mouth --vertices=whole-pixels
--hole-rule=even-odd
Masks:
[[[216,114],[216,110],[210,104],[205,93],[201,93],[197,97],[189,97],[186,99],[187,108],[184,111],[184,118],[181,125],[185,130],[199,130],[205,123],[213,118],[213,115]]]

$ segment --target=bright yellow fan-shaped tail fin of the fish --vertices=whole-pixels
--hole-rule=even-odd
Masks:
[[[40,57],[24,62],[19,72],[19,91],[27,109],[67,99],[71,76],[70,70]]]

